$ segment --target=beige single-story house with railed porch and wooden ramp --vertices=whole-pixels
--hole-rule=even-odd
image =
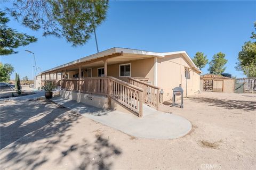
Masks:
[[[158,107],[160,99],[172,99],[174,87],[181,86],[185,96],[197,93],[201,73],[185,51],[114,47],[43,71],[38,80],[52,81],[65,90],[108,95],[109,100],[142,114],[138,105]]]

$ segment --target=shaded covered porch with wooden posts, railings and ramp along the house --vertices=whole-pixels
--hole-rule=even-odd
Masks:
[[[153,84],[158,55],[115,50],[45,71],[41,74],[41,84],[51,81],[62,90],[105,95],[109,107],[112,99],[139,117],[143,115],[143,103],[157,109],[160,88]]]

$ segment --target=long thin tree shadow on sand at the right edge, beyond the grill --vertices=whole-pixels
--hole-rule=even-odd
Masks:
[[[227,100],[227,99],[215,99],[206,97],[188,97],[190,101],[197,103],[205,103],[209,106],[223,107],[226,109],[241,109],[243,111],[255,111],[256,101],[245,100]]]

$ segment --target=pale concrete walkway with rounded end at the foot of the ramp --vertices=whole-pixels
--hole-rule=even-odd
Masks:
[[[72,111],[92,120],[115,128],[138,138],[174,139],[186,135],[191,130],[191,123],[186,118],[156,111],[144,105],[142,118],[113,110],[77,103],[74,100],[54,97],[51,99]]]

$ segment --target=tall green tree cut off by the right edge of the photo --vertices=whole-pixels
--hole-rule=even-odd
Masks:
[[[256,31],[256,22],[254,22]],[[256,40],[256,32],[252,32],[252,40]],[[247,77],[256,77],[256,41],[247,41],[238,53],[236,70],[243,71]]]

